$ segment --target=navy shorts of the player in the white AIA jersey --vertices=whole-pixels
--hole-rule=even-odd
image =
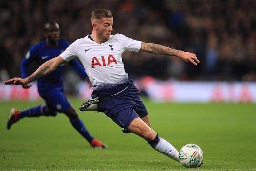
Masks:
[[[130,123],[135,118],[148,115],[133,82],[118,95],[99,100],[99,106],[108,117],[125,130],[128,130]]]

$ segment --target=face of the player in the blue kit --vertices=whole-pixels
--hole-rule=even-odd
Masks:
[[[59,24],[51,24],[46,26],[45,37],[49,42],[55,43],[59,40],[60,30]]]

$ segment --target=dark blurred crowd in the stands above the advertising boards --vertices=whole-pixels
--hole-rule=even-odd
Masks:
[[[57,21],[61,38],[73,42],[91,32],[89,14],[97,8],[112,11],[113,34],[193,52],[200,60],[194,66],[177,57],[125,52],[126,72],[142,89],[152,80],[256,81],[256,1],[161,0],[0,1],[0,79],[20,76],[22,58],[44,39],[45,22]],[[66,92],[76,95],[79,89],[69,87],[77,85],[79,76],[67,68],[65,77]]]

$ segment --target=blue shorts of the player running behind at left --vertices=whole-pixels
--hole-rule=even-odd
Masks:
[[[45,100],[45,104],[54,111],[64,113],[71,105],[65,97],[62,88],[53,88],[49,91],[39,92],[39,95]]]

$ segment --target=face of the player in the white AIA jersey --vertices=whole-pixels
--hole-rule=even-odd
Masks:
[[[108,41],[113,31],[113,18],[101,18],[97,23],[97,34],[104,42]]]

